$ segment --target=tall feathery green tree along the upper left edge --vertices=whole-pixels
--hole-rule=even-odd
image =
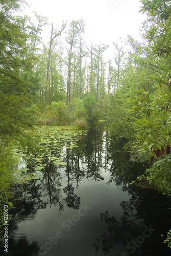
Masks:
[[[1,1],[0,11],[0,130],[2,135],[18,137],[22,127],[31,124],[30,82],[21,79],[32,68],[27,58],[28,35],[23,19],[15,15],[22,1]],[[13,14],[13,15],[12,15]]]

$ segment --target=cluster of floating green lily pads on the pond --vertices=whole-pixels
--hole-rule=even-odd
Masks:
[[[22,167],[18,170],[21,174],[20,180],[23,182],[40,179],[41,172],[47,164],[65,166],[66,162],[63,161],[61,152],[64,148],[66,150],[77,147],[78,137],[86,134],[85,131],[61,130],[59,126],[35,127],[32,133],[33,137],[39,137],[39,145],[43,151],[36,155],[19,153],[25,165],[30,165],[30,168]]]

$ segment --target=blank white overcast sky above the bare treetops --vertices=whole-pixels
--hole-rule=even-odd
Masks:
[[[48,23],[61,28],[62,20],[67,28],[71,20],[83,19],[85,33],[82,35],[86,45],[111,45],[118,42],[118,38],[127,37],[127,34],[138,39],[139,29],[146,18],[145,14],[138,13],[141,3],[139,0],[27,0],[30,7],[25,14],[32,15],[36,11],[40,16],[47,17]],[[65,31],[67,32],[67,28]],[[50,37],[51,28],[49,29]],[[64,32],[63,32],[64,33]],[[48,33],[47,33],[48,34]]]

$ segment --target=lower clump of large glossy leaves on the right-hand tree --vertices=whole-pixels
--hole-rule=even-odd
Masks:
[[[155,94],[137,91],[128,99],[131,102],[131,113],[134,118],[137,143],[143,150],[159,156],[171,145],[170,90],[167,87],[158,89]],[[159,152],[160,151],[160,152]]]

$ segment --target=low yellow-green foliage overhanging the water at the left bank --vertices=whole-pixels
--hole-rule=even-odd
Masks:
[[[21,160],[18,152],[22,150],[26,154],[37,154],[40,150],[38,136],[36,139],[33,138],[30,131],[26,131],[23,136],[21,134],[18,137],[18,143],[16,143],[16,139],[12,140],[8,137],[0,140],[0,200],[6,202],[12,198],[13,184],[21,184],[25,181],[22,172],[18,171],[18,164]]]

